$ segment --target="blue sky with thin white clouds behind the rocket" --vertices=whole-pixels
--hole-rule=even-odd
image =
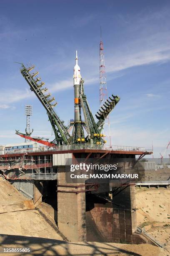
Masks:
[[[1,0],[0,144],[22,141],[15,129],[25,130],[27,104],[34,135],[51,138],[46,112],[14,61],[35,64],[67,124],[74,118],[77,50],[85,93],[97,112],[101,25],[108,95],[121,98],[110,114],[112,144],[151,148],[153,141],[158,157],[170,140],[169,10],[166,0]]]

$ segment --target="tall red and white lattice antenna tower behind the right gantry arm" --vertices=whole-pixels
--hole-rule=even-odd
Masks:
[[[107,100],[107,84],[106,84],[106,74],[105,74],[105,55],[103,52],[103,42],[102,42],[102,29],[100,27],[100,107]],[[103,133],[109,140],[111,146],[111,136],[110,136],[110,122],[109,116],[105,119],[105,124],[103,126]],[[106,139],[106,140],[107,140]]]

